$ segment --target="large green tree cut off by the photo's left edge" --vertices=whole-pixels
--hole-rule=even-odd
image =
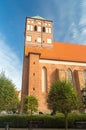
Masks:
[[[17,109],[18,102],[15,85],[2,72],[0,74],[0,111],[14,111]]]

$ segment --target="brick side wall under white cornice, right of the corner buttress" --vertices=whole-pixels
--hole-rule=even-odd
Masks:
[[[66,79],[67,80],[67,69],[70,68],[70,70],[72,71],[72,81],[73,81],[74,87],[76,88],[78,93],[81,94],[82,84],[84,85],[83,70],[86,68],[85,66],[61,65],[61,64],[57,65],[57,64],[47,64],[47,63],[39,63],[39,64],[40,64],[39,65],[40,66],[39,67],[40,68],[40,72],[39,72],[40,76],[39,77],[41,77],[42,67],[46,67],[46,69],[47,69],[47,90],[48,91],[50,89],[51,83],[53,81],[55,81],[56,79],[59,79],[59,80]],[[76,76],[74,75],[75,70],[77,70],[77,75]],[[40,81],[40,86],[41,86],[41,80],[39,79],[39,81]],[[42,110],[47,111],[46,105],[43,104],[43,102],[46,102],[47,92],[42,93],[42,91],[40,91],[40,93],[41,93],[40,110],[41,111]]]

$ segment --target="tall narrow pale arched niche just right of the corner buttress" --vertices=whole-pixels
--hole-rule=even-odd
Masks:
[[[47,92],[47,69],[42,68],[42,92]]]

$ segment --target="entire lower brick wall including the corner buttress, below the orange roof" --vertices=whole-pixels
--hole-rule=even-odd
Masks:
[[[29,54],[24,60],[22,92],[25,95],[34,95],[39,102],[39,111],[47,112],[46,97],[47,92],[42,92],[42,68],[47,69],[47,90],[54,80],[67,79],[67,69],[70,68],[73,76],[73,83],[80,93],[84,86],[83,70],[86,67],[74,65],[45,64],[39,62],[39,54]],[[76,73],[75,73],[76,71]],[[27,88],[28,86],[28,88]],[[80,88],[81,87],[81,88]],[[27,93],[28,92],[28,93]],[[23,95],[22,95],[23,96]]]

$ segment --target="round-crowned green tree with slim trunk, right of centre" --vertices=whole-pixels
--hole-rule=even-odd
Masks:
[[[59,111],[65,116],[65,130],[68,128],[68,114],[79,108],[77,92],[71,83],[56,81],[51,84],[47,97],[48,107],[54,112]]]

